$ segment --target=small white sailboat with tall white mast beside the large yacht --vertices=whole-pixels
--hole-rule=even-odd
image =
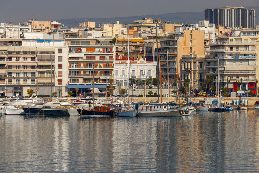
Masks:
[[[135,110],[130,110],[130,56],[129,56],[129,27],[128,27],[128,109],[121,112],[118,112],[118,116],[120,117],[136,117],[137,112]]]

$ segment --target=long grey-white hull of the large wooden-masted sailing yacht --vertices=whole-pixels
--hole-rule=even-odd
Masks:
[[[155,111],[137,111],[139,116],[148,117],[182,117],[186,108],[155,110]]]

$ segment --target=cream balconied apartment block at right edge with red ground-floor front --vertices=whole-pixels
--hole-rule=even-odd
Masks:
[[[259,30],[231,30],[230,33],[215,38],[211,43],[207,72],[213,76],[214,85],[220,76],[220,87],[237,88],[256,93],[255,81],[258,81],[258,35]],[[228,82],[230,80],[230,83]],[[240,81],[241,87],[236,81]]]

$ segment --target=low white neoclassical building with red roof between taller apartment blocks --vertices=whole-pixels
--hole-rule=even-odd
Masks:
[[[146,80],[156,78],[156,61],[146,61],[143,58],[129,59],[130,78],[134,80]],[[115,61],[115,82],[118,88],[127,88],[128,81],[128,57],[116,55]]]

